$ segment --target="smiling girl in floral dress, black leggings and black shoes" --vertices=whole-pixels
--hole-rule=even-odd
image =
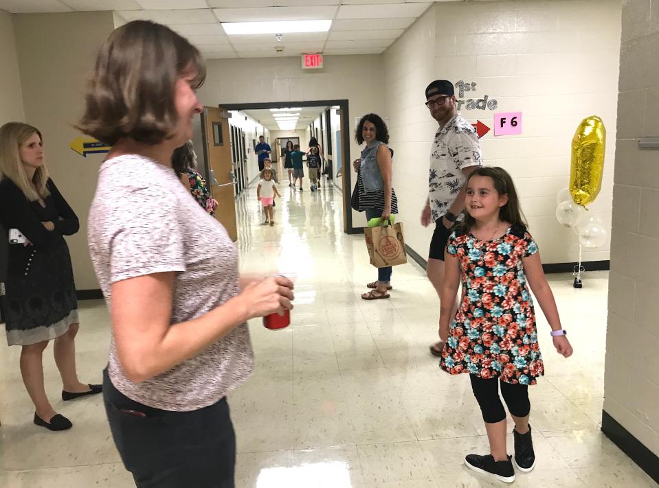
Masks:
[[[465,464],[512,483],[513,463],[522,472],[535,466],[528,386],[544,374],[527,281],[552,329],[557,352],[567,358],[572,347],[561,327],[537,245],[526,231],[511,176],[500,167],[475,170],[467,181],[465,205],[465,221],[447,244],[440,367],[451,374],[469,373],[485,422],[490,454],[469,454]],[[455,298],[450,297],[456,297],[460,281],[462,299],[450,323],[455,310]],[[514,456],[506,451],[506,412],[499,386],[515,421]]]

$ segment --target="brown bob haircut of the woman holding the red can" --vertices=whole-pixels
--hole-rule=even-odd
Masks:
[[[178,121],[174,93],[181,76],[206,69],[199,50],[164,25],[133,21],[115,30],[96,57],[78,130],[109,145],[122,137],[159,144]]]

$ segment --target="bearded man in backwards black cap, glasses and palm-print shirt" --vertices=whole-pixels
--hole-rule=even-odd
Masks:
[[[427,276],[440,301],[444,281],[444,251],[451,227],[465,209],[465,182],[482,165],[476,130],[458,113],[453,84],[434,80],[425,89],[426,106],[439,124],[430,152],[428,198],[421,212],[421,224],[432,222],[435,230],[430,241]],[[430,346],[441,356],[441,341]]]

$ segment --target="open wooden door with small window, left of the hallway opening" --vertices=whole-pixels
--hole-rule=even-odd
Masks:
[[[217,200],[215,218],[227,229],[231,240],[236,241],[236,181],[231,158],[230,116],[224,108],[204,107],[202,125],[210,178],[208,184],[213,198]]]

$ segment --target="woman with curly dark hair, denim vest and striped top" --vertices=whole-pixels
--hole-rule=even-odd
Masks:
[[[369,113],[361,117],[355,140],[366,143],[361,150],[361,158],[353,161],[357,172],[359,191],[359,211],[366,211],[366,220],[381,217],[388,220],[392,213],[398,213],[398,199],[392,187],[391,159],[393,152],[389,143],[389,130],[382,117]],[[364,300],[388,299],[391,286],[391,266],[378,268],[377,281],[368,283],[370,292],[361,295]]]

